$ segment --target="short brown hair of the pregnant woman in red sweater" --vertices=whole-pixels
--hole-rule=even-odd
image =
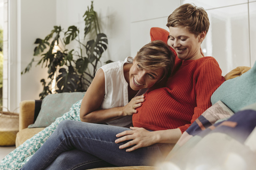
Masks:
[[[168,28],[177,26],[186,27],[197,37],[203,31],[208,32],[210,22],[204,8],[192,4],[183,4],[169,15],[166,26]]]

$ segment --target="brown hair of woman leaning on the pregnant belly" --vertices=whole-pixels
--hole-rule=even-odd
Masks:
[[[141,63],[144,69],[156,70],[163,68],[162,78],[165,78],[169,77],[173,70],[175,56],[167,44],[161,40],[155,40],[143,46],[134,60]]]

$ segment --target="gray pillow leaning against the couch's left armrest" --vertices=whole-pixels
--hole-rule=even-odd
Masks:
[[[34,124],[28,128],[45,128],[52,124],[56,118],[69,111],[78,100],[83,99],[85,92],[63,92],[61,94],[47,95],[41,105],[41,110]]]

